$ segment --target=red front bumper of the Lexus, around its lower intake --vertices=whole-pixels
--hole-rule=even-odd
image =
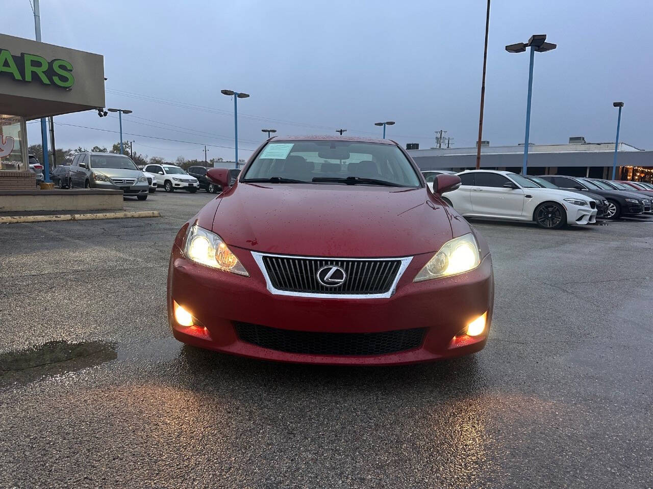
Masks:
[[[197,265],[173,247],[168,269],[168,321],[175,338],[223,353],[257,359],[320,364],[406,364],[468,355],[485,346],[492,320],[494,278],[486,255],[476,269],[457,276],[413,283],[432,254],[413,257],[387,299],[338,299],[272,294],[251,252],[231,248],[250,276]],[[173,301],[187,309],[203,327],[176,323]],[[470,321],[487,313],[479,336],[460,334]],[[293,353],[263,348],[240,338],[236,325],[246,323],[293,332],[385,333],[424,329],[416,348],[381,355]],[[298,333],[302,334],[302,333]],[[358,335],[360,336],[360,335]]]

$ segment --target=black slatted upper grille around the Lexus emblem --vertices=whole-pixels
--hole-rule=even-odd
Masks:
[[[329,259],[289,256],[263,256],[272,286],[278,290],[319,294],[387,293],[401,267],[401,259]],[[338,286],[325,286],[317,279],[323,267],[340,267],[345,280]]]

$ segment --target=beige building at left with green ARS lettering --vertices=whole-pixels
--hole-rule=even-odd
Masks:
[[[104,108],[103,56],[0,34],[0,190],[36,186],[28,121],[96,108]]]

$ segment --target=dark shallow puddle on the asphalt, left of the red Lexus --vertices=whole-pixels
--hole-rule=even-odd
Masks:
[[[116,344],[102,341],[53,341],[20,351],[0,354],[0,387],[26,384],[93,367],[118,358]]]

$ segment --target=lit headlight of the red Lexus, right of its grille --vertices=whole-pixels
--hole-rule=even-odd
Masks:
[[[479,245],[472,233],[447,241],[419,271],[413,282],[456,275],[475,269],[481,263]]]

